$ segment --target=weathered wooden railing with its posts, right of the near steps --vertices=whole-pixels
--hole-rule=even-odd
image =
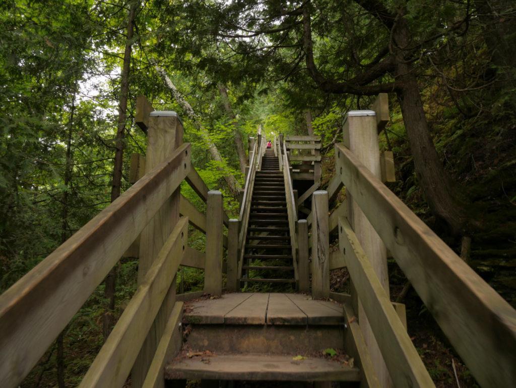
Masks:
[[[351,301],[352,309],[348,305],[346,315],[356,317],[359,326],[353,330],[361,332],[367,345],[366,361],[377,377],[369,386],[434,386],[390,301],[385,260],[389,249],[479,384],[512,386],[516,311],[382,183],[382,178],[392,179],[392,169],[389,173],[388,164],[381,166],[385,158],[380,157],[377,133],[386,104],[377,100],[375,106],[380,105],[383,112],[378,115],[348,114],[344,144],[335,145],[335,176],[327,192],[312,197],[307,222],[312,226],[312,293],[341,297],[314,283],[314,277],[326,280],[330,269],[347,267],[352,294],[344,299]],[[321,197],[328,196],[326,204],[332,203],[343,185],[346,201],[328,216]],[[338,253],[327,255],[320,241],[326,244],[337,227]],[[298,227],[300,250],[309,245],[307,239],[308,230]],[[300,266],[302,262],[300,258]]]

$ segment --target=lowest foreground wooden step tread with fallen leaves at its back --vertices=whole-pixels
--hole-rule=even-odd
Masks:
[[[181,354],[165,367],[169,380],[360,381],[360,370],[342,362],[294,355]]]

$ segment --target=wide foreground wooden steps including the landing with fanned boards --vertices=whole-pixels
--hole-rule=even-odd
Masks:
[[[166,365],[165,378],[176,380],[169,381],[172,386],[178,380],[212,380],[214,387],[219,386],[214,380],[358,386],[359,363],[344,349],[350,334],[346,322],[342,305],[305,294],[232,293],[191,301],[183,316],[186,342]],[[327,348],[338,356],[325,355]]]

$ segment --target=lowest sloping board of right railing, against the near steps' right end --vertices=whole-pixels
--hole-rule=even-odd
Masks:
[[[376,377],[373,362],[369,356],[369,350],[365,344],[362,330],[358,324],[358,319],[350,304],[343,306],[344,319],[347,330],[344,335],[344,349],[354,359],[354,364],[362,372],[361,388],[381,388],[380,382]]]

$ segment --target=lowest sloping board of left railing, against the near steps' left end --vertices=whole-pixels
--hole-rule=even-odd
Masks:
[[[167,321],[162,338],[159,340],[156,354],[152,359],[143,388],[165,388],[165,365],[181,350],[183,345],[183,302],[176,302]]]

